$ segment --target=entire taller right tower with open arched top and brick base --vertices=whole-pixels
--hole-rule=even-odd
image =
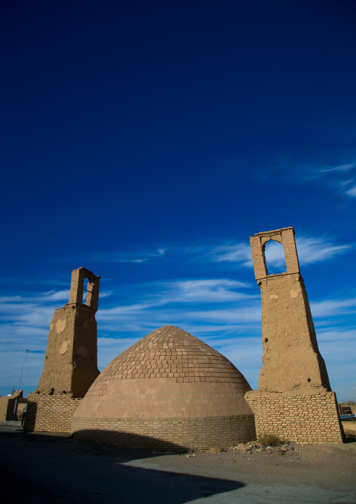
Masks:
[[[273,431],[296,442],[341,441],[336,397],[317,347],[294,234],[293,227],[284,227],[249,239],[261,290],[263,366],[259,391],[247,392],[247,400],[259,433]],[[287,271],[268,274],[269,240],[282,245]]]

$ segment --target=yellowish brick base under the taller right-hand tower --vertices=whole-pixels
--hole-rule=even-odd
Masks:
[[[334,392],[325,394],[245,393],[256,420],[257,436],[275,434],[296,443],[343,442]]]

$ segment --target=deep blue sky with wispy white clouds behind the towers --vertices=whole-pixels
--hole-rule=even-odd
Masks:
[[[1,6],[1,394],[25,349],[36,388],[79,266],[102,277],[100,369],[173,324],[256,388],[249,236],[292,225],[331,387],[355,399],[355,14],[345,0]]]

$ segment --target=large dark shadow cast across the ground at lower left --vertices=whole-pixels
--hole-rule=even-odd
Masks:
[[[0,432],[0,451],[3,503],[181,504],[244,486],[126,465],[162,451],[115,449],[60,435]]]

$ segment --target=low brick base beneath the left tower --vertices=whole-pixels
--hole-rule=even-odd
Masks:
[[[29,394],[24,431],[71,432],[71,418],[81,403],[66,395]]]

